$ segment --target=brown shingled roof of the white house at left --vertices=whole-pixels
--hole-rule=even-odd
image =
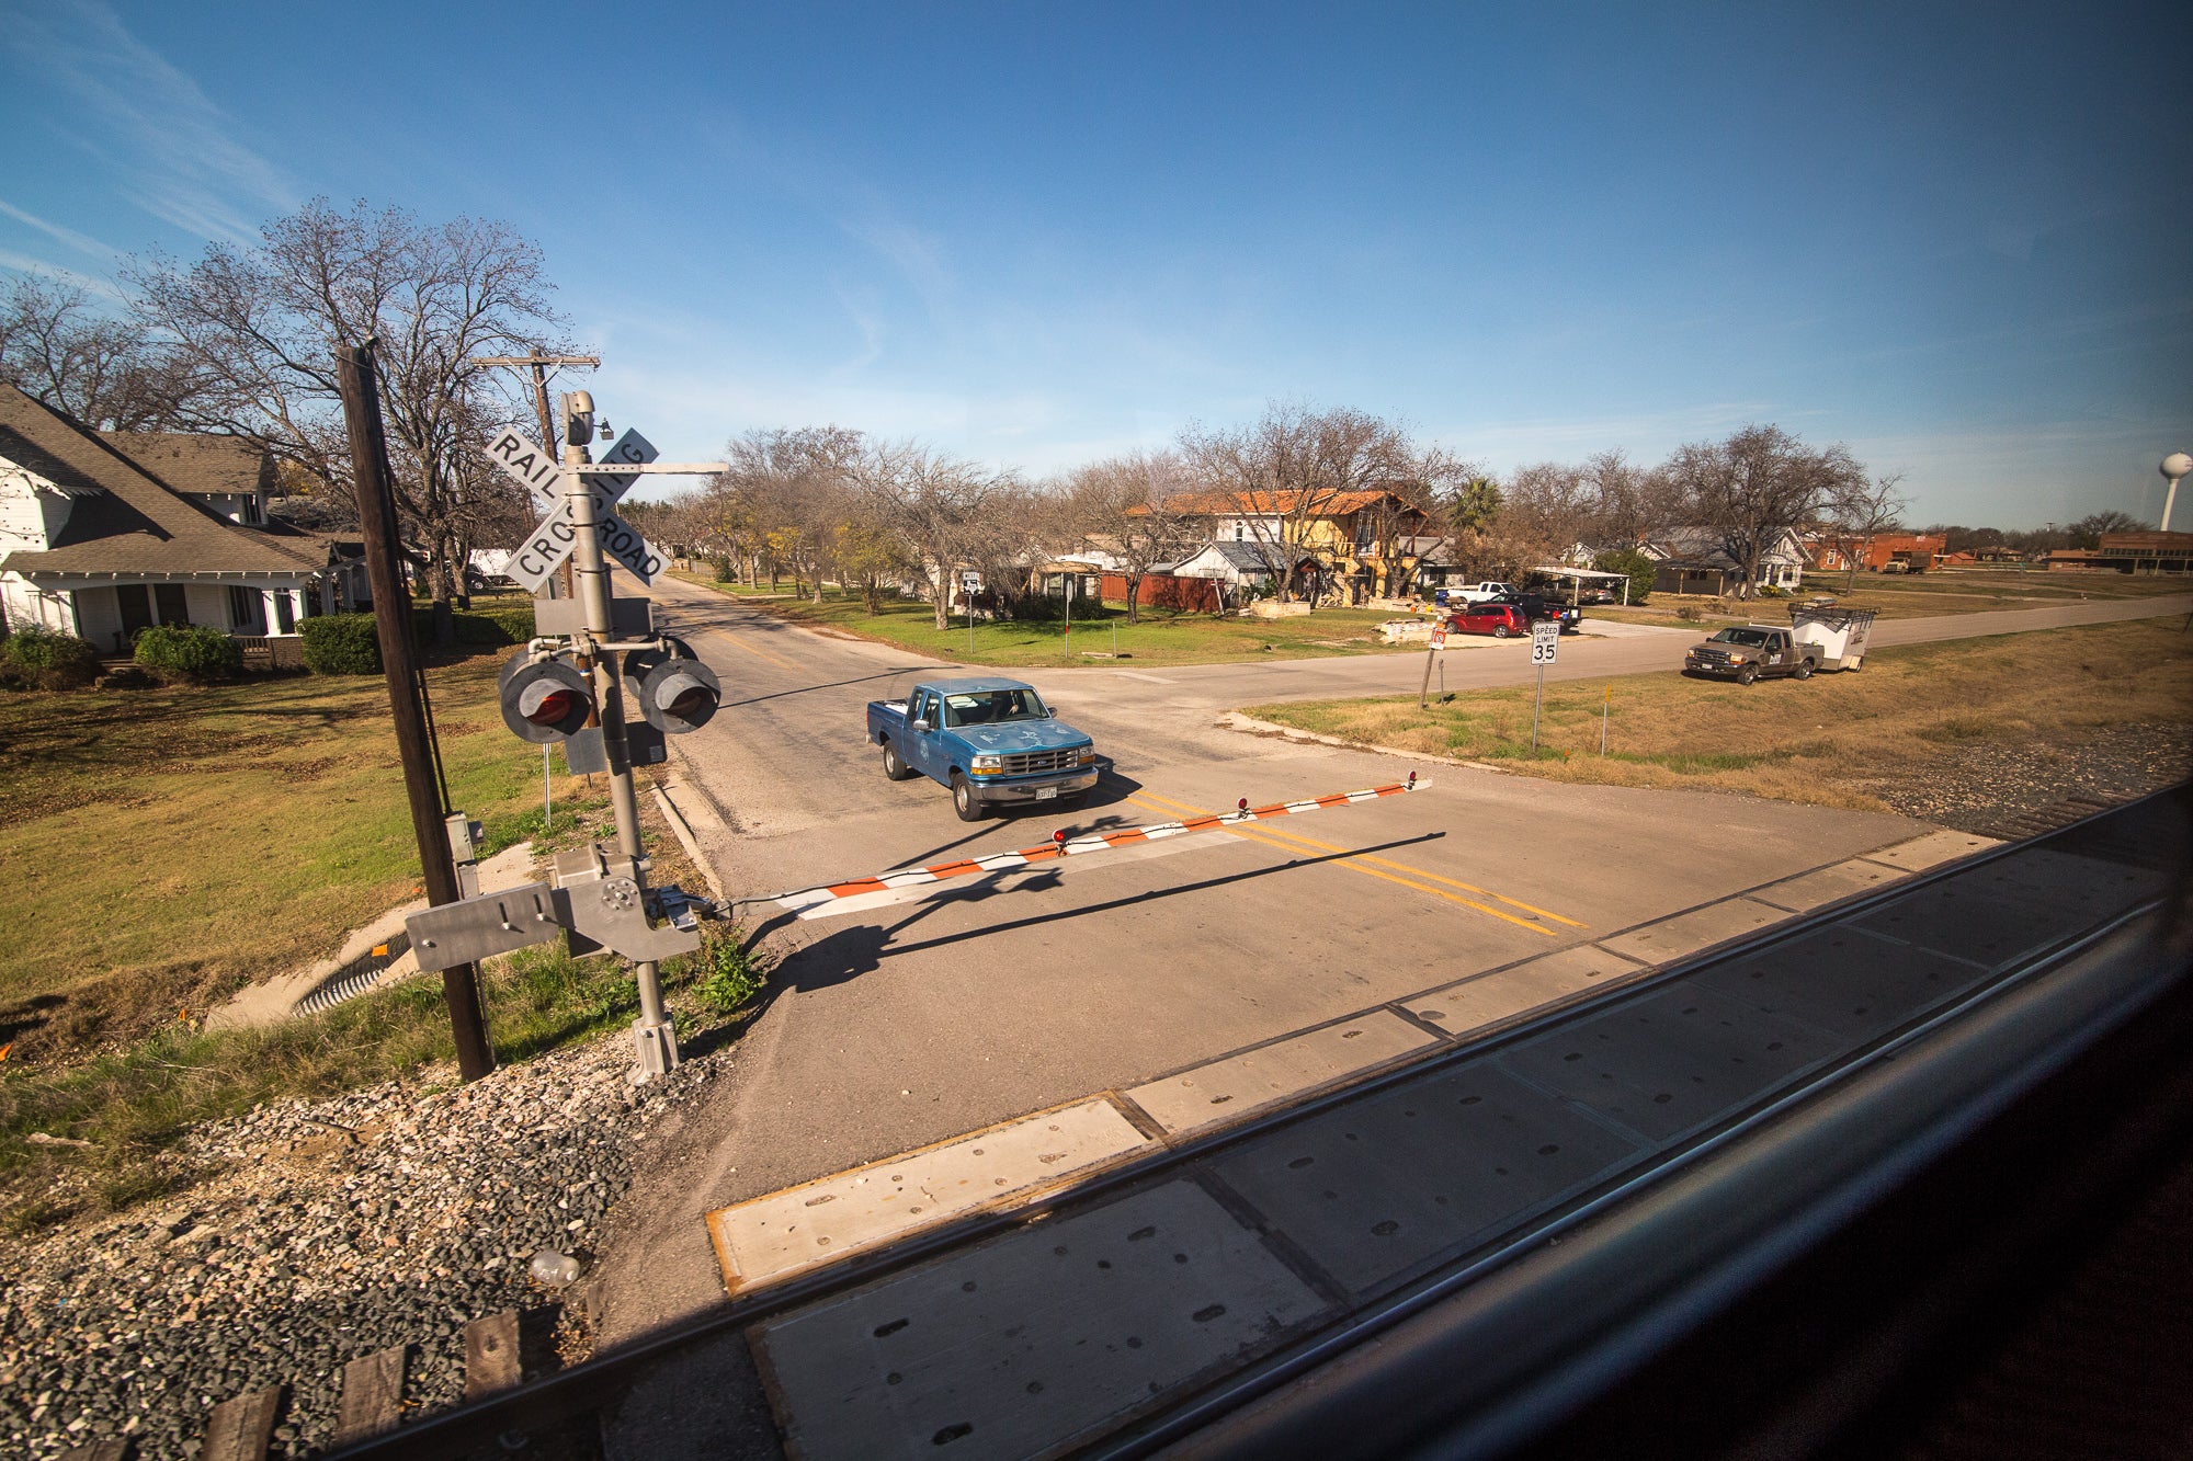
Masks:
[[[145,432],[156,437],[154,432]],[[164,441],[175,441],[164,437]],[[213,452],[171,452],[191,461],[193,480],[211,480],[232,439]],[[44,476],[77,496],[55,544],[44,553],[9,553],[13,573],[311,573],[327,564],[327,544],[289,529],[248,529],[197,507],[175,487],[132,461],[99,432],[0,386],[0,458]],[[257,463],[252,467],[257,480]],[[193,487],[191,491],[237,491]],[[243,487],[241,491],[250,491]],[[81,494],[81,496],[79,496]]]

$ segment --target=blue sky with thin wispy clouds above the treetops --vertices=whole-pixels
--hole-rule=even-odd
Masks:
[[[1050,472],[1296,397],[1500,469],[1776,421],[1917,520],[2151,520],[2189,13],[0,0],[0,268],[366,197],[539,241],[671,458]]]

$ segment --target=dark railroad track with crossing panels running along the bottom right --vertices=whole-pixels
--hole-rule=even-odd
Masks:
[[[1309,1404],[1289,1382],[1351,1375],[1377,1336],[1406,1354],[1395,1336],[1456,1312],[1482,1334],[1443,1404],[1493,1413],[1559,1373],[1570,1321],[1643,1283],[1623,1275],[1772,1242],[1796,1198],[1950,1121],[1950,1073],[2011,1079],[2020,1040],[2101,1038],[2178,987],[2189,807],[2180,785],[2088,812],[564,1373],[353,1428],[340,1454],[726,1454],[763,1400],[783,1450],[816,1459],[1292,1452],[1314,1426],[1257,1430]],[[1640,1233],[1660,1239],[1590,1268]],[[388,1393],[390,1362],[360,1364]],[[252,1439],[202,1459],[257,1461]],[[1377,1439],[1357,1419],[1320,1446]]]

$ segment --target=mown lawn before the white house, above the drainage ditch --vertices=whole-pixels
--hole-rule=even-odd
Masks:
[[[500,656],[430,671],[450,796],[513,840],[539,750],[496,711]],[[333,954],[412,895],[379,676],[0,698],[0,1042],[129,1040]]]

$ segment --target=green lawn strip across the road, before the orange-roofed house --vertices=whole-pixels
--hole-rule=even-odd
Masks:
[[[678,577],[704,588],[726,588],[702,573]],[[967,621],[936,630],[936,610],[919,601],[886,599],[882,614],[868,614],[860,594],[825,590],[822,603],[798,599],[757,601],[770,614],[816,627],[873,638],[941,660],[996,665],[1000,669],[1035,669],[1050,665],[1112,665],[1110,656],[1143,667],[1162,665],[1232,665],[1243,660],[1305,660],[1336,654],[1393,654],[1377,625],[1395,619],[1388,610],[1333,610],[1292,619],[1217,619],[1213,614],[1158,614],[1143,610],[1140,623],[1127,623],[1118,605],[1075,605],[1072,634],[1064,623],[982,623],[976,621],[969,641]],[[1083,619],[1083,612],[1088,614]],[[971,645],[971,647],[969,647]],[[1421,654],[1421,645],[1417,647]]]

